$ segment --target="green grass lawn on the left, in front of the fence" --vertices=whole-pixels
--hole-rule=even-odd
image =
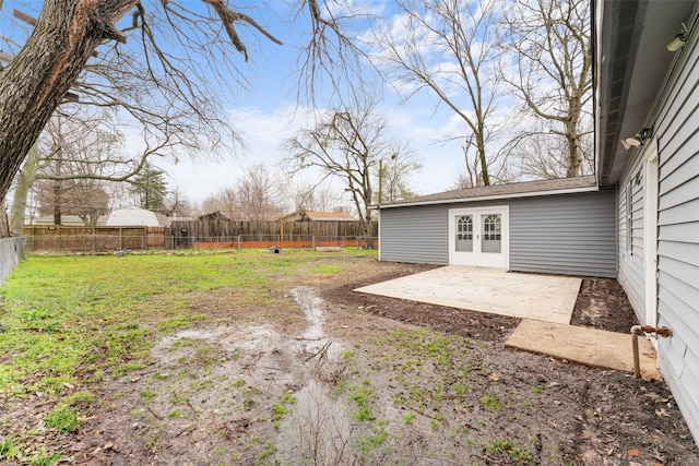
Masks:
[[[205,310],[193,310],[201,294],[229,289],[238,306],[265,306],[269,285],[282,276],[307,267],[319,274],[343,270],[317,259],[305,250],[32,256],[0,288],[0,394],[56,396],[66,385],[100,380],[105,371],[122,377],[141,369],[163,334],[209,319]]]

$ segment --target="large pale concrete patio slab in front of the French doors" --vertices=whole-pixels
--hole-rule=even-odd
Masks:
[[[355,291],[567,324],[581,283],[574,277],[450,265]]]

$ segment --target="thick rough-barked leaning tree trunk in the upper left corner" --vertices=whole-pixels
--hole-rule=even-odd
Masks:
[[[0,74],[0,200],[51,113],[137,0],[46,0],[34,32]]]

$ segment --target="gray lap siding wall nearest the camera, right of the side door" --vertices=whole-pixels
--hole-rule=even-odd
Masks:
[[[655,122],[659,140],[657,312],[674,332],[659,362],[699,442],[699,37],[685,47]]]

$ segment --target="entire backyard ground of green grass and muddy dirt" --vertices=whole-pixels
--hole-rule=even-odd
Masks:
[[[0,463],[699,458],[662,383],[374,315],[339,287],[414,272],[375,258],[29,258],[0,288]]]

